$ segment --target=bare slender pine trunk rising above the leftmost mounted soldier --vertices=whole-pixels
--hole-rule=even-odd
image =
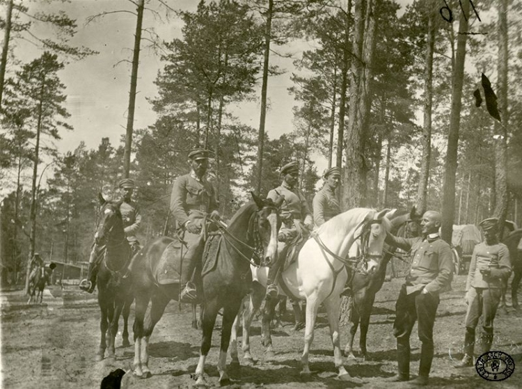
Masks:
[[[132,56],[131,87],[129,91],[129,108],[127,114],[127,133],[125,134],[125,151],[123,152],[123,174],[129,177],[130,154],[132,148],[132,132],[134,130],[134,109],[136,107],[136,87],[138,85],[138,66],[140,59],[141,25],[143,24],[143,8],[145,0],[138,0],[138,17],[134,35],[134,51]]]

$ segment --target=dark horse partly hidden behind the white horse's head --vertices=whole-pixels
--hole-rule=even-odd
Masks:
[[[420,220],[422,215],[416,212],[413,207],[410,212],[401,212],[398,216],[390,219],[392,225],[391,232],[398,237],[413,238],[420,236]],[[387,246],[387,245],[386,245]],[[372,313],[375,295],[381,289],[384,278],[386,277],[386,267],[388,262],[395,256],[395,250],[385,249],[385,254],[381,262],[377,264],[377,269],[373,273],[367,271],[349,272],[349,286],[351,287],[351,314],[349,317],[348,342],[345,347],[345,355],[349,359],[355,359],[353,347],[354,337],[357,327],[361,323],[361,336],[359,346],[363,360],[367,358],[366,336],[370,325],[370,315]],[[356,269],[358,269],[356,267]]]

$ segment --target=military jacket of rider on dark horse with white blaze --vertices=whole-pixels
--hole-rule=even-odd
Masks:
[[[187,221],[203,219],[205,214],[218,209],[214,188],[205,179],[198,180],[191,172],[175,180],[171,195],[171,212],[181,227]]]

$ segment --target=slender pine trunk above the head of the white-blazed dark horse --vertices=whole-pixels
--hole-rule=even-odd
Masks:
[[[270,59],[270,40],[272,34],[272,13],[274,13],[274,0],[268,1],[267,26],[264,31],[264,61],[263,77],[261,86],[261,114],[259,119],[258,134],[258,195],[261,191],[261,181],[263,174],[263,148],[264,148],[264,122],[267,118],[267,88],[268,88],[268,68]]]

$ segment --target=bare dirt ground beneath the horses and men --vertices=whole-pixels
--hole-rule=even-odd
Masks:
[[[521,388],[522,387],[522,313],[508,307],[498,312],[495,321],[493,349],[505,351],[516,363],[514,374],[503,382],[489,382],[477,375],[474,367],[454,369],[452,360],[459,358],[464,338],[465,276],[456,276],[453,291],[441,296],[436,319],[435,358],[430,387],[434,388]],[[276,357],[267,360],[260,342],[260,321],[253,323],[253,366],[229,370],[230,388],[402,388],[404,383],[386,383],[395,374],[395,338],[392,335],[395,299],[402,279],[384,283],[377,294],[368,333],[370,360],[346,362],[357,382],[336,378],[333,350],[324,311],[319,311],[315,340],[310,355],[313,375],[303,381],[301,352],[303,330],[292,331],[289,305],[283,326],[273,337]],[[121,367],[130,370],[134,347],[122,348],[117,340],[115,361],[95,362],[100,342],[100,312],[95,296],[77,292],[73,287],[46,289],[42,305],[26,305],[21,291],[1,292],[1,387],[2,388],[100,388],[102,378]],[[508,303],[509,305],[509,303]],[[131,312],[130,321],[134,320]],[[121,326],[120,326],[121,327]],[[219,354],[221,327],[216,326],[213,346],[207,358],[208,383],[218,386],[216,362]],[[416,375],[420,342],[416,328],[411,338],[411,372]],[[132,336],[132,330],[131,330]],[[188,305],[171,302],[150,339],[149,366],[154,374],[149,379],[136,379],[125,374],[122,388],[187,388],[193,386],[191,374],[198,362],[200,331],[191,328]],[[347,340],[341,333],[342,347]],[[132,343],[132,340],[131,340]],[[358,344],[358,335],[355,344]],[[358,349],[358,347],[356,347]],[[241,351],[239,351],[242,357]],[[229,358],[230,362],[230,358]]]

